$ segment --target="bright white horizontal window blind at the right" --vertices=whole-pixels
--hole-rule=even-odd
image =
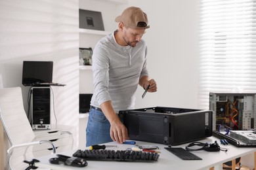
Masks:
[[[256,1],[200,1],[199,107],[209,92],[256,93]]]

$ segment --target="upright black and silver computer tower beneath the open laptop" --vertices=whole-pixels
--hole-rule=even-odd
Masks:
[[[51,88],[33,87],[31,95],[32,129],[51,129]]]

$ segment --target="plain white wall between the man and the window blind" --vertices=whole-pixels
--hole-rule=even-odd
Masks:
[[[198,4],[199,0],[137,1],[146,12],[150,29],[142,37],[148,44],[148,70],[158,82],[157,93],[142,88],[137,107],[198,107]]]

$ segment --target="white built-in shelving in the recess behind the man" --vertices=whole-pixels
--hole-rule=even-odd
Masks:
[[[93,48],[102,37],[117,29],[114,21],[118,14],[127,7],[127,0],[80,0],[79,9],[99,11],[105,31],[95,29],[79,28],[79,47]],[[79,93],[93,93],[93,72],[88,65],[79,65]],[[86,132],[88,113],[79,114],[79,148],[84,148],[86,143]]]

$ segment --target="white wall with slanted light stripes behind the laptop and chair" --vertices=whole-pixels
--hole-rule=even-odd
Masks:
[[[22,85],[23,61],[53,61],[53,82],[66,84],[53,87],[58,124],[78,124],[78,3],[78,0],[0,1],[3,87],[22,87],[27,110],[30,87]],[[51,116],[54,124],[54,115]]]

